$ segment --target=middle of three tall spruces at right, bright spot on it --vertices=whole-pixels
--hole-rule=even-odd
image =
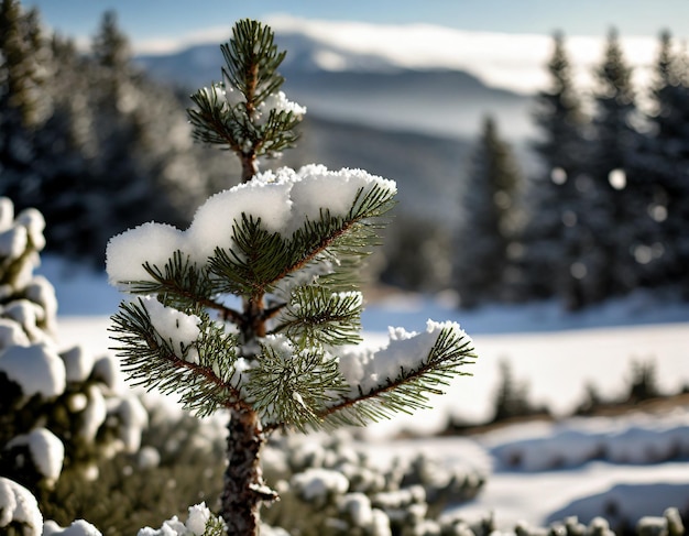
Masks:
[[[582,284],[586,302],[594,303],[625,294],[638,283],[634,245],[645,211],[643,181],[635,165],[641,135],[634,123],[635,105],[632,68],[627,65],[619,35],[608,35],[602,63],[595,70],[593,151],[590,182],[582,186],[587,199],[583,227],[587,242],[582,251]]]

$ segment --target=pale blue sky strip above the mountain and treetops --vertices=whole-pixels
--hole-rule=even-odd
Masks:
[[[65,35],[85,40],[102,13],[114,10],[135,46],[198,34],[243,18],[286,13],[308,19],[378,23],[424,22],[460,30],[506,33],[657,35],[668,29],[689,39],[689,0],[23,0]]]

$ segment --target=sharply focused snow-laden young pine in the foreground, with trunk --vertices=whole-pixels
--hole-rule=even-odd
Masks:
[[[230,414],[221,515],[259,530],[262,446],[275,430],[364,425],[426,407],[475,358],[453,322],[360,346],[361,261],[394,203],[392,181],[310,165],[258,173],[295,142],[305,109],[281,91],[273,32],[242,20],[221,45],[223,83],[193,96],[195,136],[229,149],[243,183],[209,198],[186,231],[146,223],[111,239],[110,281],[139,295],[112,318],[133,383],[199,415]]]

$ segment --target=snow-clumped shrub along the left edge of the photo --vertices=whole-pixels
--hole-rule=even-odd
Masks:
[[[14,216],[0,198],[0,474],[52,511],[63,474],[92,480],[100,460],[139,449],[147,413],[118,392],[112,355],[58,347],[54,288],[33,274],[44,227],[37,210]]]

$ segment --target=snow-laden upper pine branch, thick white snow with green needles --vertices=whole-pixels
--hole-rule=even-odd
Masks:
[[[266,172],[210,197],[186,231],[150,222],[113,237],[107,249],[109,281],[129,292],[154,289],[136,283],[169,281],[163,274],[177,251],[198,266],[219,256],[218,264],[229,264],[229,272],[242,267],[242,263],[250,263],[248,270],[256,272],[261,267],[256,258],[248,259],[252,252],[255,254],[256,247],[265,250],[261,261],[272,259],[282,244],[295,258],[293,264],[306,264],[338,238],[338,231],[341,233],[362,219],[382,216],[395,194],[394,182],[360,169],[331,172],[310,165],[297,172]],[[305,256],[300,252],[306,242],[311,251]],[[260,278],[280,278],[286,275],[282,269],[275,273],[266,266]]]

